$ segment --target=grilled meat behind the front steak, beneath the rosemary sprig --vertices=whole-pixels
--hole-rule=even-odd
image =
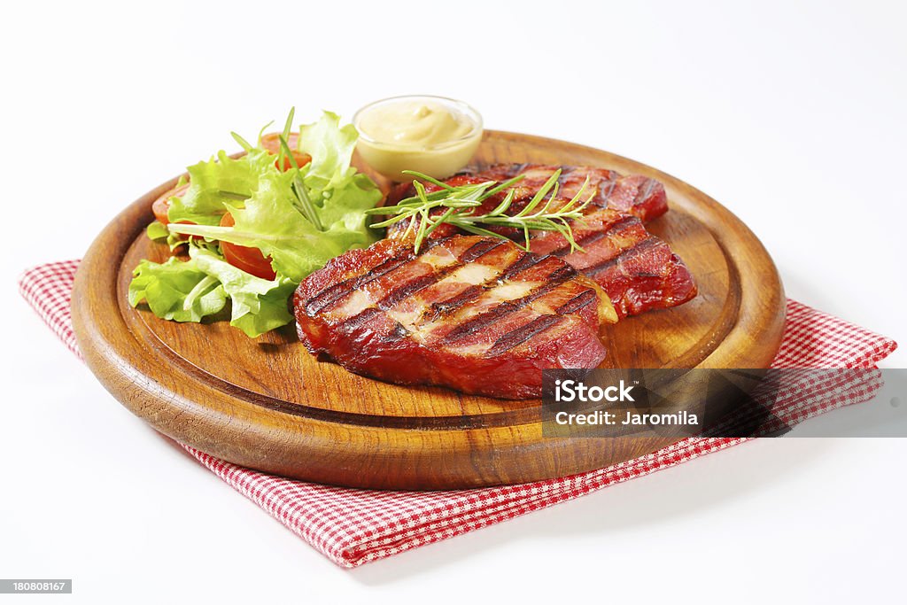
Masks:
[[[558,166],[540,164],[507,164],[493,166],[487,171],[464,174],[449,179],[452,185],[483,181],[506,181],[522,174],[522,181],[513,189],[516,195],[508,212],[519,212],[532,200],[536,191]],[[586,207],[582,222],[573,221],[573,238],[582,251],[571,253],[569,242],[556,231],[533,231],[532,251],[561,257],[573,267],[594,279],[608,293],[620,317],[639,315],[645,311],[677,307],[697,294],[696,282],[683,261],[668,244],[649,233],[642,224],[655,219],[668,210],[665,188],[658,181],[642,176],[623,177],[614,171],[589,167],[562,168],[559,190],[552,210],[575,196],[589,177],[587,192],[595,196]],[[426,190],[437,190],[429,185]],[[397,199],[411,193],[396,192]],[[477,213],[493,210],[502,200],[503,193],[486,200]],[[560,204],[558,203],[560,200]],[[406,221],[395,223],[388,237],[409,239]],[[522,241],[522,231],[493,228],[493,230]],[[457,229],[442,225],[432,233],[434,237],[449,237]]]

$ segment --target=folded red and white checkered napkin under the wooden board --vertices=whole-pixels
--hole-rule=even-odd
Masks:
[[[77,260],[42,265],[26,271],[19,288],[44,322],[77,356],[81,356],[70,321],[70,290]],[[787,302],[787,326],[776,367],[873,368],[896,343],[862,327]],[[869,399],[880,382],[836,385],[814,396],[780,397],[773,413],[788,425],[843,405]],[[378,492],[293,481],[229,464],[184,446],[213,473],[243,493],[292,532],[343,567],[356,567],[430,542],[502,522],[525,512],[571,500],[612,483],[621,483],[743,439],[696,438],[615,464],[563,479],[452,492]]]

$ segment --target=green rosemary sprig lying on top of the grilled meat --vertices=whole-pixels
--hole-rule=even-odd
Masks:
[[[416,253],[418,253],[422,243],[431,235],[432,231],[445,223],[474,235],[499,239],[510,238],[488,229],[489,227],[518,229],[522,231],[526,244],[525,246],[517,244],[517,246],[526,251],[530,251],[532,244],[530,231],[557,231],[570,244],[571,252],[578,249],[582,250],[576,240],[573,239],[571,220],[581,219],[582,211],[586,209],[590,201],[595,197],[593,191],[585,201],[580,201],[589,185],[588,177],[583,182],[580,190],[577,191],[577,194],[555,210],[552,208],[552,204],[557,200],[558,180],[561,177],[561,171],[554,171],[548,181],[545,181],[544,185],[536,191],[535,195],[532,196],[532,200],[529,200],[522,210],[509,215],[507,211],[511,209],[516,195],[516,191],[511,188],[515,183],[522,180],[523,175],[501,183],[483,181],[469,185],[454,186],[437,181],[420,172],[404,172],[417,179],[433,183],[440,189],[427,192],[420,181],[413,181],[414,196],[401,200],[394,206],[366,210],[366,214],[390,217],[373,224],[372,227],[375,229],[393,225],[400,220],[409,219],[406,234],[409,235],[412,229],[415,229],[414,249]],[[504,190],[507,190],[507,193],[504,195],[503,200],[491,212],[475,213],[475,209],[482,206],[483,201]],[[546,196],[548,200],[545,200]],[[444,211],[439,211],[441,209],[444,209]]]

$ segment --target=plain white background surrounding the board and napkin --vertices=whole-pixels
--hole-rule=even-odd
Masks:
[[[54,602],[902,599],[907,441],[747,444],[342,571],[107,395],[15,294],[290,105],[462,98],[759,235],[787,293],[903,341],[901,3],[18,3],[0,23],[0,577]],[[224,355],[229,355],[225,351]],[[899,351],[885,366],[904,366]],[[902,394],[902,401],[905,394]],[[32,598],[41,600],[41,598]]]

